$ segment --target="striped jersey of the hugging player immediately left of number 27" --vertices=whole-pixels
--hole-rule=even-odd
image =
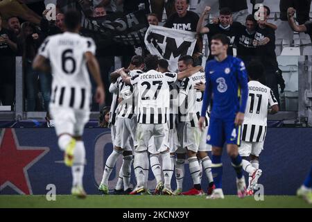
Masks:
[[[136,76],[142,74],[141,70],[132,70],[129,72],[129,76]],[[137,87],[134,85],[125,85],[125,82],[121,77],[118,78],[119,98],[122,101],[118,105],[117,117],[132,119],[137,114]]]

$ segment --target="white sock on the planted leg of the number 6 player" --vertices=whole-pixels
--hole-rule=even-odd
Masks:
[[[83,171],[85,169],[85,145],[82,141],[76,142],[73,151],[73,167],[71,173],[73,175],[73,187],[83,186]]]

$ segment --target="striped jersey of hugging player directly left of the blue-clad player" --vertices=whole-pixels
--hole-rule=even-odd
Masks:
[[[190,122],[192,127],[198,127],[200,112],[202,111],[202,100],[204,92],[195,89],[197,83],[206,83],[204,71],[198,71],[188,78],[184,78],[180,87],[180,94],[184,94],[184,101],[181,101],[180,121]],[[182,96],[180,96],[182,98]],[[205,116],[205,126],[208,126],[209,116]]]

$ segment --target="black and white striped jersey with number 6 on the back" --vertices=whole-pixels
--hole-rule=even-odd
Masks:
[[[44,40],[38,53],[50,60],[52,68],[50,106],[89,110],[92,87],[85,53],[95,51],[94,41],[77,33],[65,32]]]

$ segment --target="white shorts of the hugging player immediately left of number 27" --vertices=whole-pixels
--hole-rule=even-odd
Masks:
[[[126,150],[129,141],[132,139],[135,142],[135,131],[137,128],[137,119],[132,118],[116,118],[116,136],[114,145]],[[128,151],[128,150],[127,150]],[[130,148],[129,151],[132,151]]]

